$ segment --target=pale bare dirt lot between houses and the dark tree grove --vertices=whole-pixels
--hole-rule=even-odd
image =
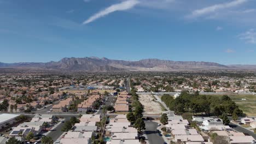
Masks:
[[[144,114],[160,115],[162,113],[162,107],[158,101],[154,101],[151,94],[139,94],[139,101],[144,106]]]

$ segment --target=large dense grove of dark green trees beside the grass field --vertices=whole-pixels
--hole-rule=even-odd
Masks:
[[[193,115],[221,116],[229,115],[233,117],[243,116],[243,111],[239,109],[228,95],[222,97],[212,95],[189,94],[183,91],[181,95],[174,99],[170,95],[163,95],[161,100],[179,115],[190,112]]]

